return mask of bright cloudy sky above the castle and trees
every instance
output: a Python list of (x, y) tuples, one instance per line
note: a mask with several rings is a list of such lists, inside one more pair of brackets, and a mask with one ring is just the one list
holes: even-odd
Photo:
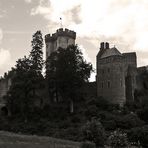
[(148, 65), (148, 0), (0, 0), (0, 76), (29, 54), (37, 30), (44, 37), (60, 28), (60, 17), (94, 68), (100, 42)]

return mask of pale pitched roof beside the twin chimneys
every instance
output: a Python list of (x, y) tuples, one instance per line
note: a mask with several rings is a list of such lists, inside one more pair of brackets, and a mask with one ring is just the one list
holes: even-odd
[(115, 56), (115, 55), (122, 56), (120, 51), (116, 47), (113, 47), (110, 49), (106, 49), (104, 53), (101, 55), (101, 58), (106, 58), (106, 57)]

